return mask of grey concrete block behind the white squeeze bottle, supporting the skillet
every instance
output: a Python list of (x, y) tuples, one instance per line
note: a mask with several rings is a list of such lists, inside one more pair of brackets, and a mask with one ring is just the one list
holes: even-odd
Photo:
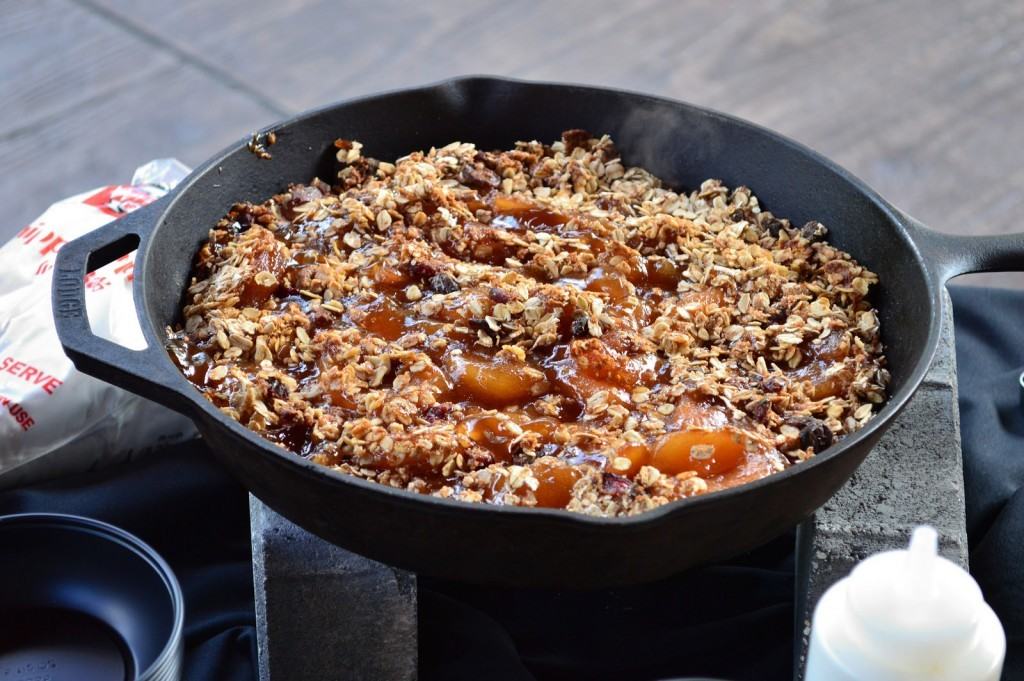
[(849, 482), (800, 527), (797, 543), (797, 658), (803, 675), (818, 598), (867, 556), (904, 548), (915, 525), (930, 524), (940, 552), (968, 565), (964, 461), (956, 402), (952, 313), (935, 360), (903, 412)]

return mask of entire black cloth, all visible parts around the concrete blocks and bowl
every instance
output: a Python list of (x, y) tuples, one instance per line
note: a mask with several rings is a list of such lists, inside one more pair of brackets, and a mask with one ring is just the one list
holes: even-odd
[[(971, 568), (1024, 679), (1024, 293), (951, 291)], [(202, 444), (0, 494), (0, 514), (76, 513), (124, 527), (185, 595), (187, 681), (256, 679), (245, 491)], [(539, 592), (420, 582), (421, 678), (790, 679), (793, 536), (653, 585)]]

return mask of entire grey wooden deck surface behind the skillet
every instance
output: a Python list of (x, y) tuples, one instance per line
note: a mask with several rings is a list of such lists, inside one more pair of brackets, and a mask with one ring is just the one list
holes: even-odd
[(1024, 230), (1024, 2), (0, 0), (0, 242), (150, 159), (470, 73), (712, 107), (935, 228)]

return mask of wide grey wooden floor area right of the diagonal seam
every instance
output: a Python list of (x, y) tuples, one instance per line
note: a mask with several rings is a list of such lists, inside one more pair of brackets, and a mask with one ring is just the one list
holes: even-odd
[(279, 111), (465, 73), (605, 84), (777, 129), (936, 228), (1024, 209), (1024, 3), (78, 2)]

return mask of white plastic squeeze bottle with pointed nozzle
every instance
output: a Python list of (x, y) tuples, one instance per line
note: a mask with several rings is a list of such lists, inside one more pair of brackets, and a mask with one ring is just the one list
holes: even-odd
[(918, 527), (818, 601), (804, 681), (998, 681), (1006, 652), (978, 583)]

